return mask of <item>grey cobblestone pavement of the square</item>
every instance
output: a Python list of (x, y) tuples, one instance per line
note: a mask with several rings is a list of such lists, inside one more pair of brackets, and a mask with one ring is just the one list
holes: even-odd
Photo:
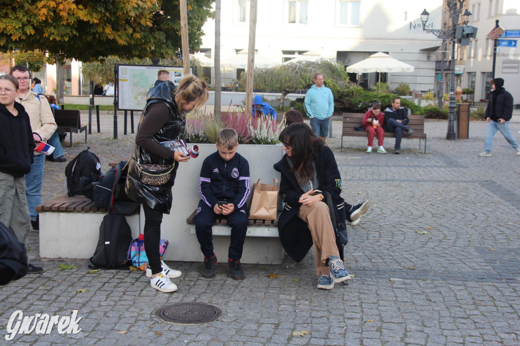
[[(75, 135), (79, 142), (66, 155), (89, 146), (103, 167), (129, 155), (135, 137), (122, 134), (121, 115), (119, 139), (111, 138), (112, 117), (103, 115), (106, 132), (87, 144)], [(485, 126), (471, 122), (470, 139), (447, 141), (446, 121), (427, 121), (427, 153), (419, 140), (404, 139), (394, 155), (365, 153), (361, 138), (345, 138), (341, 151), (341, 122), (334, 122), (330, 145), (343, 195), (350, 203), (371, 203), (349, 229), (345, 263), (356, 276), (348, 286), (316, 289), (310, 252), (297, 264), (287, 256), (281, 265), (246, 264), (240, 282), (228, 277), (224, 263), (207, 280), (199, 275), (201, 263), (171, 262), (183, 276), (173, 280), (178, 291), (164, 294), (142, 272), (90, 274), (86, 260), (40, 259), (38, 234), (31, 232), (30, 258), (46, 272), (0, 288), (0, 344), (520, 345), (520, 157), (500, 134), (493, 155), (478, 157)], [(520, 140), (518, 117), (511, 130)], [(393, 143), (387, 139), (385, 148)], [(65, 166), (46, 163), (44, 200), (64, 192)], [(63, 263), (77, 268), (60, 271)], [(176, 302), (213, 304), (223, 314), (199, 325), (161, 322), (155, 312)], [(4, 339), (16, 310), (70, 316), (73, 309), (82, 317), (78, 334), (54, 328)]]

